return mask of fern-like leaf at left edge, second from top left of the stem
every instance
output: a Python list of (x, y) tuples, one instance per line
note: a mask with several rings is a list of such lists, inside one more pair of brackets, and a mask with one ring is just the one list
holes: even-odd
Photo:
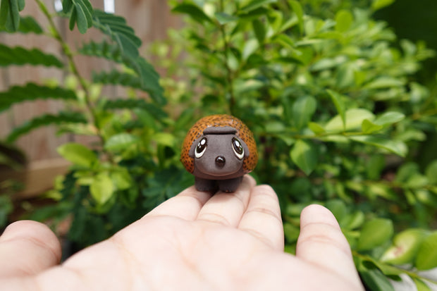
[(63, 63), (52, 54), (44, 54), (39, 49), (25, 49), (23, 47), (7, 47), (0, 44), (0, 66), (9, 65), (42, 65), (63, 67)]

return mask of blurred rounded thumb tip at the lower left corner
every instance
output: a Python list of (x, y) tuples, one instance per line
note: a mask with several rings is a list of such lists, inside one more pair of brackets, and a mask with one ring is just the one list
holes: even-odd
[(0, 278), (34, 275), (59, 264), (61, 245), (42, 223), (17, 221), (0, 237)]

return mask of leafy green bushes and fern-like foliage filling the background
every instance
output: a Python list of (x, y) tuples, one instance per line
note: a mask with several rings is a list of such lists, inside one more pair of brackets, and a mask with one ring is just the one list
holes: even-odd
[[(49, 193), (57, 203), (32, 218), (72, 216), (69, 238), (78, 247), (103, 240), (191, 185), (178, 161), (185, 132), (202, 116), (231, 113), (257, 138), (253, 175), (278, 193), (287, 252), (295, 251), (302, 208), (324, 204), (369, 290), (393, 290), (401, 277), (418, 290), (436, 284), (422, 272), (437, 266), (436, 70), (423, 68), (435, 53), (377, 20), (393, 1), (169, 1), (185, 27), (148, 47), (154, 66), (165, 68), (161, 78), (123, 18), (87, 0), (64, 0), (56, 15), (36, 1), (49, 27), (19, 15), (23, 0), (1, 1), (0, 25), (5, 33), (51, 35), (67, 63), (2, 45), (0, 65), (53, 66), (70, 75), (60, 84), (8, 88), (0, 110), (55, 98), (66, 112), (28, 120), (6, 142), (56, 124), (60, 133), (94, 135), (99, 144), (59, 147), (73, 166)], [(95, 27), (102, 37), (68, 47), (54, 17), (82, 33)], [(117, 66), (95, 68), (85, 80), (75, 54)], [(126, 96), (108, 99), (106, 85), (128, 88)]]

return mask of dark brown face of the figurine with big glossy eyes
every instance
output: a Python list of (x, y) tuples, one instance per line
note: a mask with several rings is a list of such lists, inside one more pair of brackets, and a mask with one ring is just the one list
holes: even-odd
[(195, 158), (195, 175), (217, 179), (242, 175), (242, 162), (249, 156), (249, 149), (235, 132), (230, 127), (204, 130), (190, 149), (190, 156)]

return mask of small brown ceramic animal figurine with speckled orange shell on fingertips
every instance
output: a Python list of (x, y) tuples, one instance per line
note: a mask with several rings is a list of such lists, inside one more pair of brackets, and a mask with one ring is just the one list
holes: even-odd
[(257, 144), (240, 119), (207, 116), (188, 131), (180, 161), (195, 175), (197, 190), (235, 192), (242, 176), (257, 165)]

